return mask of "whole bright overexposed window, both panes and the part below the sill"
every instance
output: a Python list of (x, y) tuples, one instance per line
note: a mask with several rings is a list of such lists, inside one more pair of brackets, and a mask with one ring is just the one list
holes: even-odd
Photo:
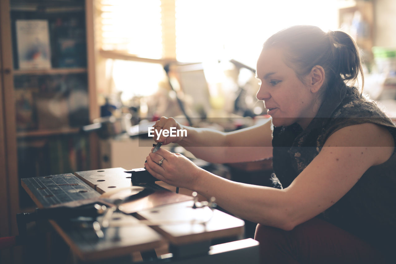
[(165, 76), (161, 63), (175, 59), (235, 59), (255, 68), (263, 42), (280, 29), (337, 29), (336, 2), (97, 0), (97, 44), (107, 69), (99, 76), (106, 80), (97, 81), (99, 93), (123, 91), (124, 99), (152, 94)]

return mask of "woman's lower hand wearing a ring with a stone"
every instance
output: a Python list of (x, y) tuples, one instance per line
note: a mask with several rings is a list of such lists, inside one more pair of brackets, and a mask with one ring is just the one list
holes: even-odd
[(156, 153), (150, 153), (145, 168), (158, 180), (190, 190), (194, 190), (198, 173), (202, 170), (185, 156), (171, 153), (166, 149), (158, 149)]

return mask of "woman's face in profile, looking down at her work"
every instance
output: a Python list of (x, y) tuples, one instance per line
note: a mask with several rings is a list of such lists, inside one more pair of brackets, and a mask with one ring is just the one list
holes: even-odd
[[(297, 122), (306, 128), (317, 113), (316, 96), (284, 60), (280, 48), (261, 52), (256, 72), (261, 83), (256, 97), (264, 101), (274, 126), (289, 126)], [(309, 75), (304, 81), (309, 83)]]

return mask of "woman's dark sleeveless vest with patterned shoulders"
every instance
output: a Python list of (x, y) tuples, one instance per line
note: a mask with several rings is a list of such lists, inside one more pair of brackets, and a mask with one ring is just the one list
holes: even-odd
[[(395, 125), (375, 102), (354, 89), (344, 89), (339, 99), (325, 101), (305, 130), (296, 123), (274, 128), (274, 187), (289, 186), (335, 131), (366, 122), (386, 127), (396, 145)], [(396, 147), (388, 161), (370, 167), (352, 189), (320, 217), (385, 252), (396, 248)]]

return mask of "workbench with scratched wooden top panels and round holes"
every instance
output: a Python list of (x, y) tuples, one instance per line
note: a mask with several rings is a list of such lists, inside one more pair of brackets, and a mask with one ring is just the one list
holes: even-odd
[[(124, 171), (107, 168), (24, 178), (21, 184), (40, 215), (65, 208), (82, 208), (85, 214), (93, 205), (97, 212), (105, 210), (95, 217), (77, 213), (49, 218), (77, 263), (259, 263), (259, 245), (253, 239), (211, 245), (215, 239), (242, 237), (243, 220), (160, 182), (132, 184), (131, 174)], [(169, 252), (156, 253), (158, 248)], [(139, 260), (131, 257), (137, 252)]]

